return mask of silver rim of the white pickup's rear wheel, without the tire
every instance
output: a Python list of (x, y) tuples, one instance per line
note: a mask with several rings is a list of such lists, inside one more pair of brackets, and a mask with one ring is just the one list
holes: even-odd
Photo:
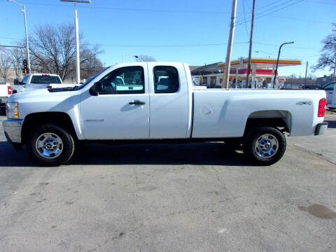
[(278, 151), (279, 142), (272, 134), (263, 134), (255, 141), (255, 153), (261, 158), (272, 158)]

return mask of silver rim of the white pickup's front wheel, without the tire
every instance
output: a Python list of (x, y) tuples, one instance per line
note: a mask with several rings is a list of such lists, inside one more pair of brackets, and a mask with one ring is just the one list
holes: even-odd
[(57, 158), (63, 151), (63, 141), (57, 134), (43, 133), (37, 138), (35, 148), (43, 158)]

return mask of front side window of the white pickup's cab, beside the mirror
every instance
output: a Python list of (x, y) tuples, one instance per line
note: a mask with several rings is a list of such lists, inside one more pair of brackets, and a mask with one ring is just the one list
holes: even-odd
[(142, 66), (126, 66), (111, 71), (101, 80), (101, 94), (144, 94), (145, 77)]

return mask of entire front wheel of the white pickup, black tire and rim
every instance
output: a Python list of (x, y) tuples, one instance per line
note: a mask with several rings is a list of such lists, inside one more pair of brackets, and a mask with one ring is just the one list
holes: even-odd
[(58, 166), (72, 157), (75, 144), (71, 134), (62, 127), (45, 124), (31, 132), (27, 139), (27, 151), (41, 165)]

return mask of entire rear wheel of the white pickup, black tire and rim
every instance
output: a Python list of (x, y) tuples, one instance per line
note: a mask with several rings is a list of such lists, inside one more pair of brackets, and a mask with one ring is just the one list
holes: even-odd
[(286, 138), (276, 127), (259, 126), (244, 137), (244, 153), (258, 165), (273, 165), (286, 151)]

